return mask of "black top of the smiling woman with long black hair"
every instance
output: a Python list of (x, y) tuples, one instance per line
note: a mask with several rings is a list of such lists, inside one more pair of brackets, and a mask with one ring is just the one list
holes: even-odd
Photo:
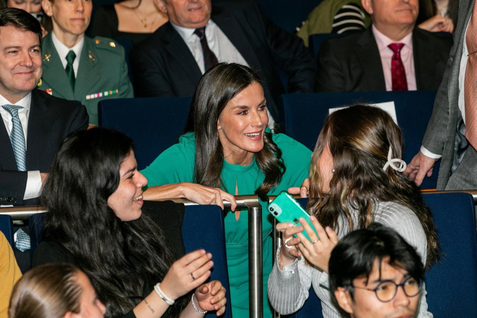
[[(142, 208), (155, 223), (161, 228), (167, 245), (170, 246), (176, 259), (186, 254), (184, 242), (182, 240), (182, 221), (184, 220), (184, 204), (174, 203), (173, 201), (144, 201)], [(132, 221), (134, 222), (134, 221)], [(173, 243), (173, 244), (172, 244)], [(61, 244), (55, 242), (41, 242), (33, 254), (33, 267), (48, 263), (69, 263), (75, 265), (73, 255)], [(146, 280), (143, 297), (147, 297), (156, 281)], [(169, 317), (171, 307), (167, 309), (162, 317)], [(131, 309), (122, 318), (135, 318)]]

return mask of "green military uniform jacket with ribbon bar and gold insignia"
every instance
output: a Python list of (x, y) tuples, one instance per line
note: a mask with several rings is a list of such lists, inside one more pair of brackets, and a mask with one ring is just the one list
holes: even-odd
[(88, 111), (90, 124), (98, 124), (98, 102), (105, 98), (134, 97), (127, 74), (124, 48), (111, 39), (84, 36), (74, 92), (56, 52), (52, 33), (41, 44), (43, 76), (38, 88), (68, 100), (81, 102)]

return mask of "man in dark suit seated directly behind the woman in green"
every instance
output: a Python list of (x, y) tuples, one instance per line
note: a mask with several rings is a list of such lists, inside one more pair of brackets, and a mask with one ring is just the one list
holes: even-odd
[(136, 96), (192, 96), (202, 74), (217, 62), (258, 71), (275, 119), (278, 96), (285, 93), (277, 66), (288, 74), (288, 92), (312, 92), (316, 65), (311, 54), (301, 39), (266, 18), (255, 1), (155, 3), (169, 22), (130, 54)]

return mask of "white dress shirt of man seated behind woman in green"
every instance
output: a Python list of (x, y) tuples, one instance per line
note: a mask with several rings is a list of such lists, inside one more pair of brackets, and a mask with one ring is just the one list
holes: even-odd
[[(196, 29), (184, 28), (174, 24), (170, 21), (172, 27), (180, 34), (181, 38), (186, 42), (187, 47), (194, 56), (194, 59), (197, 62), (197, 66), (200, 69), (202, 74), (205, 73), (204, 66), (204, 54), (202, 53), (202, 45), (200, 44), (200, 38), (197, 34), (194, 34)], [(217, 24), (215, 24), (212, 19), (210, 19), (206, 24), (206, 39), (209, 49), (215, 54), (218, 62), (227, 62), (227, 63), (238, 63), (242, 65), (249, 66), (247, 61), (240, 54), (239, 50), (235, 45), (230, 42), (227, 35), (220, 30)], [(250, 67), (250, 66), (249, 66)], [(273, 124), (275, 120), (270, 114), (270, 111), (267, 108), (267, 113), (269, 116), (269, 125)]]

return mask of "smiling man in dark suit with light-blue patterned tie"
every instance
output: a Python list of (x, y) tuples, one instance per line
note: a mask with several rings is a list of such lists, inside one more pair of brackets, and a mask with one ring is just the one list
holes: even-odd
[(35, 89), (41, 26), (20, 9), (0, 10), (0, 205), (38, 204), (52, 159), (69, 133), (88, 125), (86, 108)]

